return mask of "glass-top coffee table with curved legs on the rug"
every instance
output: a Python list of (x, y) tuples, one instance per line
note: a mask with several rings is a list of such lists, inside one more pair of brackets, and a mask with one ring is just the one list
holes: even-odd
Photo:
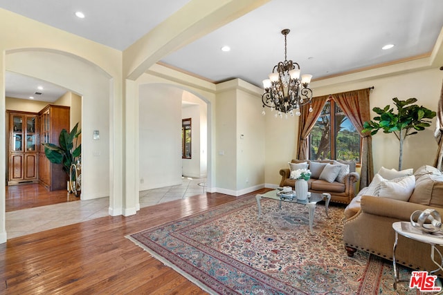
[(312, 230), (312, 226), (314, 225), (314, 211), (316, 209), (316, 204), (320, 201), (325, 201), (325, 212), (327, 218), (329, 218), (328, 214), (328, 207), (329, 207), (329, 201), (331, 200), (331, 195), (329, 193), (308, 193), (307, 200), (297, 200), (297, 198), (294, 196), (293, 198), (285, 198), (280, 195), (281, 191), (279, 189), (275, 189), (273, 191), (268, 191), (266, 193), (257, 194), (255, 195), (255, 199), (257, 200), (257, 206), (258, 206), (258, 218), (262, 215), (262, 204), (260, 204), (260, 200), (262, 198), (266, 199), (272, 199), (272, 200), (278, 200), (280, 202), (279, 207), (282, 209), (282, 202), (292, 202), (296, 204), (302, 204), (305, 205), (309, 212), (309, 230), (311, 231), (311, 234), (314, 234), (314, 231)]

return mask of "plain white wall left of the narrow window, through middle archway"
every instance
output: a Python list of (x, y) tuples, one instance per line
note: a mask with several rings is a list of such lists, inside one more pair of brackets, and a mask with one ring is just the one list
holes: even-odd
[(181, 96), (164, 84), (139, 87), (141, 191), (181, 184)]

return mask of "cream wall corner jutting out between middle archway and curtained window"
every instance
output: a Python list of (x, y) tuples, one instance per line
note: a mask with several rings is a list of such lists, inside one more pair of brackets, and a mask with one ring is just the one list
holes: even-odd
[(264, 187), (261, 92), (240, 79), (217, 84), (216, 167), (221, 193), (240, 196)]

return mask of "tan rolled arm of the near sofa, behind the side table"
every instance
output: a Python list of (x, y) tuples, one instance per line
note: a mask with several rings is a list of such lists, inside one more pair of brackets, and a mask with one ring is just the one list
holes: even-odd
[[(410, 220), (415, 210), (423, 211), (431, 206), (374, 196), (361, 196), (361, 212), (397, 220)], [(443, 216), (443, 208), (432, 207)], [(361, 213), (360, 212), (360, 213)], [(357, 215), (357, 214), (356, 214)]]

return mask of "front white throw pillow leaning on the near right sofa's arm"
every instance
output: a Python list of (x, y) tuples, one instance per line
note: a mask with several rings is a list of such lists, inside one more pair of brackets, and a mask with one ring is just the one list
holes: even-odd
[(409, 175), (393, 180), (383, 180), (374, 191), (375, 196), (408, 201), (415, 188), (415, 176)]

